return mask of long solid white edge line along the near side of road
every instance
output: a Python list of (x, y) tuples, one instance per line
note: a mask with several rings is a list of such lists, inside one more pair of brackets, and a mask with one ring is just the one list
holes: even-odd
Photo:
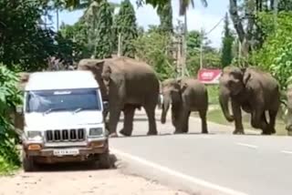
[(169, 169), (169, 168), (164, 167), (162, 165), (153, 163), (153, 162), (151, 162), (151, 161), (149, 161), (147, 159), (141, 159), (140, 157), (133, 156), (133, 155), (131, 155), (129, 153), (126, 153), (126, 152), (122, 152), (119, 149), (112, 149), (112, 148), (110, 148), (110, 151), (112, 151), (113, 153), (115, 153), (117, 155), (120, 155), (121, 157), (134, 160), (136, 162), (139, 162), (139, 163), (141, 163), (141, 164), (143, 164), (145, 166), (151, 167), (153, 169), (159, 169), (162, 172), (165, 172), (165, 173), (170, 174), (172, 176), (181, 178), (183, 180), (188, 180), (190, 182), (193, 182), (193, 184), (195, 184), (195, 185), (201, 185), (201, 186), (203, 186), (205, 188), (209, 188), (209, 189), (213, 189), (213, 190), (218, 190), (218, 191), (221, 191), (221, 192), (226, 193), (226, 194), (232, 194), (232, 195), (247, 195), (246, 193), (241, 192), (241, 191), (232, 190), (232, 189), (229, 189), (229, 188), (225, 188), (223, 186), (216, 185), (214, 183), (210, 183), (210, 182), (205, 181), (205, 180), (196, 179), (196, 178), (191, 177), (189, 175), (185, 175), (185, 174), (183, 174), (183, 173), (181, 173), (179, 171), (176, 171), (176, 170), (173, 170), (173, 169)]

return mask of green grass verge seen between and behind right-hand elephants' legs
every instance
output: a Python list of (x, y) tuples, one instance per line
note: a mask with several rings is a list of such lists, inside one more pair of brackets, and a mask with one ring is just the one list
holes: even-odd
[[(193, 116), (198, 117), (197, 113), (193, 114)], [(234, 127), (234, 122), (228, 122), (222, 113), (221, 109), (213, 109), (208, 112), (208, 121), (212, 121), (214, 123), (231, 126)], [(250, 115), (243, 113), (243, 124), (245, 129), (259, 130), (252, 128), (250, 125)], [(285, 129), (285, 122), (282, 119), (277, 118), (276, 120), (276, 135), (277, 136), (286, 136), (287, 130)]]

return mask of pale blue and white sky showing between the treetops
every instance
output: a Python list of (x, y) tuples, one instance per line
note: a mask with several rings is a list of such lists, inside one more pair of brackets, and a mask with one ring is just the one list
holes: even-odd
[[(113, 3), (120, 3), (120, 0), (109, 0)], [(208, 0), (208, 6), (206, 8), (201, 5), (201, 0), (194, 0), (194, 8), (191, 6), (187, 12), (187, 24), (188, 30), (203, 30), (209, 32), (214, 26), (224, 17), (228, 11), (228, 0)], [(159, 16), (156, 14), (155, 9), (151, 5), (143, 5), (137, 8), (136, 0), (130, 0), (131, 4), (136, 10), (136, 18), (139, 26), (143, 26), (145, 29), (149, 25), (159, 25)], [(178, 0), (172, 0), (172, 23), (177, 24), (177, 20), (183, 17), (179, 17)], [(64, 22), (65, 24), (72, 25), (78, 21), (78, 18), (83, 14), (83, 10), (68, 12), (66, 10), (59, 13), (59, 25)], [(56, 24), (56, 14), (52, 15), (53, 26)], [(212, 32), (207, 36), (211, 40), (211, 46), (219, 48), (221, 46), (221, 38), (223, 36), (222, 21)], [(230, 26), (232, 27), (232, 26)]]

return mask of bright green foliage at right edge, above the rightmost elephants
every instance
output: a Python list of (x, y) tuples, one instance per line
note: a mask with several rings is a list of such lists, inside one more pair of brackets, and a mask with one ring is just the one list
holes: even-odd
[[(264, 21), (271, 21), (272, 14), (262, 15)], [(255, 64), (269, 71), (279, 81), (282, 88), (287, 87), (287, 81), (292, 76), (292, 12), (281, 12), (277, 16), (276, 30), (267, 24), (264, 28), (269, 35), (262, 49), (253, 55)]]

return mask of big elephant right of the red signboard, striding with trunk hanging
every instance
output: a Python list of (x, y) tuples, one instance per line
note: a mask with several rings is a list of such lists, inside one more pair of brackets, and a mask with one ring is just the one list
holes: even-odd
[[(229, 113), (231, 99), (233, 115)], [(224, 117), (235, 121), (234, 134), (244, 134), (241, 108), (251, 114), (253, 128), (262, 129), (262, 134), (276, 133), (276, 114), (280, 105), (279, 84), (269, 73), (254, 67), (224, 67), (219, 79), (219, 102)], [(269, 123), (266, 121), (266, 110)]]

